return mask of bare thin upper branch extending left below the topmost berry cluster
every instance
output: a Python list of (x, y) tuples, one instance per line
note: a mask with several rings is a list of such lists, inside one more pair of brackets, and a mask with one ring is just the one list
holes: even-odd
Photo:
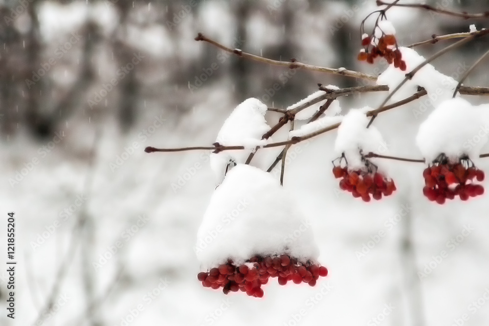
[(339, 68), (339, 69), (333, 69), (333, 68), (327, 68), (327, 67), (321, 67), (317, 65), (308, 65), (304, 64), (301, 62), (298, 62), (295, 59), (291, 59), (290, 62), (286, 61), (276, 61), (272, 59), (267, 59), (263, 58), (254, 54), (246, 53), (243, 52), (241, 49), (231, 49), (229, 47), (226, 47), (222, 45), (221, 43), (218, 43), (214, 40), (211, 40), (207, 37), (205, 37), (202, 33), (199, 33), (197, 37), (195, 38), (196, 41), (205, 41), (207, 43), (211, 43), (212, 45), (219, 47), (220, 49), (228, 52), (228, 53), (234, 53), (239, 57), (243, 57), (246, 59), (262, 62), (264, 64), (268, 65), (280, 65), (280, 66), (285, 66), (289, 67), (290, 69), (304, 69), (304, 70), (309, 70), (309, 71), (319, 71), (319, 72), (326, 72), (326, 73), (331, 73), (331, 74), (336, 74), (336, 75), (343, 75), (347, 77), (353, 77), (353, 78), (359, 78), (359, 79), (365, 79), (365, 80), (371, 80), (375, 81), (377, 77), (364, 74), (358, 71), (353, 71), (353, 70), (348, 70), (344, 68)]

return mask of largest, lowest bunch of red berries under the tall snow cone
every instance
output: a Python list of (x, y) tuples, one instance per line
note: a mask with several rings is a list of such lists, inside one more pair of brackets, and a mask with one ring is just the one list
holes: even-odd
[(319, 264), (307, 261), (302, 263), (288, 255), (275, 257), (254, 256), (246, 263), (235, 266), (232, 261), (211, 268), (208, 272), (200, 272), (197, 279), (204, 287), (218, 289), (222, 292), (246, 292), (247, 295), (263, 297), (262, 284), (268, 283), (268, 278), (277, 277), (280, 285), (292, 281), (295, 284), (302, 282), (311, 286), (316, 285), (317, 279), (328, 275), (328, 269)]

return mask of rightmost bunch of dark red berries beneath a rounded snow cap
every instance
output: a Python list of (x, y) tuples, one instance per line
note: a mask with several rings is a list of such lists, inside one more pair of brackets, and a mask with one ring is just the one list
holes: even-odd
[(467, 200), (484, 194), (484, 187), (475, 184), (475, 180), (484, 181), (484, 171), (477, 169), (468, 157), (462, 157), (458, 163), (450, 163), (445, 154), (441, 154), (424, 169), (423, 177), (424, 196), (439, 204), (455, 196)]

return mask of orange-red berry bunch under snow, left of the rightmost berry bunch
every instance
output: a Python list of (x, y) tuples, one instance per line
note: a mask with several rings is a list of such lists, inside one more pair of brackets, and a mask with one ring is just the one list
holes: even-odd
[(335, 178), (341, 178), (339, 187), (346, 190), (355, 198), (362, 197), (363, 201), (369, 202), (370, 195), (376, 200), (382, 199), (382, 195), (390, 196), (396, 190), (394, 180), (387, 179), (384, 175), (376, 172), (362, 170), (348, 171), (348, 168), (333, 167)]

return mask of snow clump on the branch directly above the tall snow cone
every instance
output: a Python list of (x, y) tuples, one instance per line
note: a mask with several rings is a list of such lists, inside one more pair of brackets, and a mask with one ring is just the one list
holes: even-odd
[(211, 153), (210, 165), (219, 183), (230, 161), (244, 163), (256, 146), (271, 141), (271, 138), (262, 139), (263, 134), (270, 130), (265, 120), (266, 112), (265, 104), (256, 98), (249, 98), (238, 105), (224, 121), (216, 142), (224, 146), (244, 146), (245, 150)]

